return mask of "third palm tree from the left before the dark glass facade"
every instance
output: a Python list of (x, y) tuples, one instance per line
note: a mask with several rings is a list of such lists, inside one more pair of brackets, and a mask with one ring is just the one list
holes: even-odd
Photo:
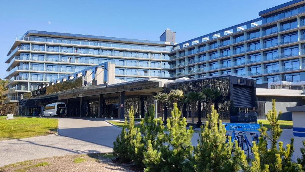
[(205, 99), (205, 95), (202, 92), (188, 92), (185, 96), (185, 102), (191, 103), (192, 112), (192, 124), (195, 124), (195, 111), (197, 101)]

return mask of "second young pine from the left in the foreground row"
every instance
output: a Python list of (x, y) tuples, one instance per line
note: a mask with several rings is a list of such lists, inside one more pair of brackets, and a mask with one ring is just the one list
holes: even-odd
[(160, 144), (157, 143), (157, 136), (164, 134), (163, 121), (160, 118), (154, 119), (155, 105), (149, 106), (149, 116), (146, 113), (145, 119), (140, 122), (140, 128), (137, 130), (137, 135), (134, 140), (132, 140), (133, 151), (135, 152), (131, 157), (133, 162), (138, 166), (144, 168), (144, 151), (147, 147), (151, 149), (160, 150)]

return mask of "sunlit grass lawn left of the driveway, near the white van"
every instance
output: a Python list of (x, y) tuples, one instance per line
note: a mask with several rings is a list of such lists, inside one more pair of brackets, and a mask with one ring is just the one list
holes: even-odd
[(0, 117), (0, 140), (20, 139), (26, 137), (54, 134), (57, 132), (58, 120), (51, 118)]

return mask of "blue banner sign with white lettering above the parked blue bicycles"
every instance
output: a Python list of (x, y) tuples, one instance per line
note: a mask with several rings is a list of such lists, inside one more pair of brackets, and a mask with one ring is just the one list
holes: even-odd
[(260, 128), (259, 124), (251, 124), (251, 123), (222, 123), (225, 125), (227, 131), (240, 131), (240, 132), (258, 132)]

